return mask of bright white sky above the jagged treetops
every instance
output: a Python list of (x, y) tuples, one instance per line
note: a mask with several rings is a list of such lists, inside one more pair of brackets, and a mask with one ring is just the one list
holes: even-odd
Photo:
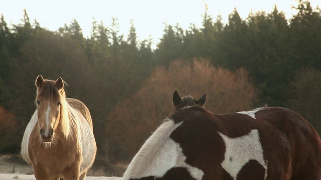
[[(110, 26), (111, 18), (117, 17), (120, 33), (127, 38), (132, 19), (140, 40), (151, 35), (157, 43), (163, 36), (163, 22), (179, 23), (183, 29), (188, 29), (190, 23), (201, 27), (204, 2), (208, 4), (208, 14), (215, 20), (220, 13), (225, 23), (234, 7), (245, 19), (251, 10), (272, 11), (275, 3), (290, 18), (295, 13), (291, 5), (297, 6), (295, 0), (0, 0), (0, 13), (7, 23), (18, 24), (26, 8), (32, 23), (37, 19), (41, 27), (52, 31), (65, 23), (69, 25), (75, 18), (85, 37), (90, 35), (93, 17), (105, 26)], [(310, 2), (313, 8), (321, 4), (320, 0)]]

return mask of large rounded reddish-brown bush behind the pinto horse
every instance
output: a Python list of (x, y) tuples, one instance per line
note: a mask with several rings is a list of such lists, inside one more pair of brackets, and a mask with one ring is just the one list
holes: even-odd
[(143, 141), (174, 108), (173, 92), (199, 98), (207, 93), (205, 107), (216, 113), (248, 110), (256, 99), (244, 68), (230, 71), (207, 59), (175, 60), (168, 68), (156, 67), (134, 95), (115, 105), (108, 116), (110, 160), (129, 160)]

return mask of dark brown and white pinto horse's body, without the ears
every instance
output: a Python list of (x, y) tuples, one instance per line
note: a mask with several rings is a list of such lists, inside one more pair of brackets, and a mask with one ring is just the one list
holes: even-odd
[(321, 141), (282, 107), (215, 114), (178, 109), (152, 133), (123, 175), (129, 179), (321, 179)]

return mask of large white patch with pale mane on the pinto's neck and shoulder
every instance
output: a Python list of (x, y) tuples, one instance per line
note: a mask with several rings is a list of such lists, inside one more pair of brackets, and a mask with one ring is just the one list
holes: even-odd
[(171, 133), (182, 124), (166, 119), (139, 149), (128, 165), (123, 180), (155, 176), (163, 177), (174, 167), (184, 167), (190, 175), (201, 180), (204, 172), (186, 163), (186, 156), (181, 145), (170, 138)]

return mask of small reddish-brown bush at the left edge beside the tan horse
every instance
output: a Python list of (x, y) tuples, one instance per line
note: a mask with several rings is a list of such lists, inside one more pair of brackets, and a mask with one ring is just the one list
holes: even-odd
[(0, 106), (0, 152), (8, 153), (17, 148), (20, 140), (17, 134), (18, 129), (15, 115)]

